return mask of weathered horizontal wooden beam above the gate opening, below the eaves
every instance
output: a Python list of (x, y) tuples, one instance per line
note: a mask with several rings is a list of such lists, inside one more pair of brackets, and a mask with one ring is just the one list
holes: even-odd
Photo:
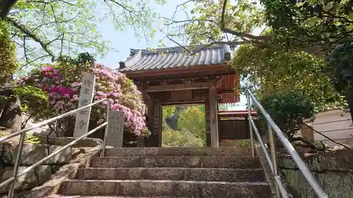
[(191, 84), (177, 84), (177, 85), (158, 85), (146, 87), (147, 92), (166, 92), (177, 90), (190, 90), (190, 89), (208, 89), (210, 82), (198, 82)]

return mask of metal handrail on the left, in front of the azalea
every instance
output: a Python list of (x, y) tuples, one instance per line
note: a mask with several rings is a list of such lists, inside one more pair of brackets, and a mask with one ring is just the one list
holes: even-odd
[[(41, 159), (40, 161), (37, 161), (36, 163), (34, 163), (32, 166), (28, 166), (27, 168), (25, 168), (25, 170), (23, 170), (22, 172), (18, 173), (18, 167), (20, 166), (20, 158), (21, 158), (21, 154), (22, 154), (22, 149), (23, 149), (23, 143), (25, 142), (25, 133), (33, 130), (35, 128), (40, 128), (44, 125), (47, 125), (49, 123), (52, 123), (56, 120), (59, 120), (61, 118), (65, 118), (67, 116), (73, 116), (74, 113), (77, 113), (78, 111), (81, 111), (83, 109), (86, 109), (88, 107), (91, 106), (95, 106), (96, 104), (100, 104), (104, 101), (107, 101), (107, 120), (106, 122), (102, 123), (101, 125), (97, 126), (97, 128), (94, 128), (93, 130), (90, 130), (89, 132), (87, 132), (85, 135), (82, 135), (80, 137), (78, 137), (76, 140), (73, 140), (72, 142), (66, 144), (64, 147), (62, 147), (61, 149), (58, 149), (57, 151), (54, 151), (52, 154), (49, 154), (48, 156), (44, 157), (43, 159)], [(68, 111), (67, 113), (61, 114), (60, 116), (56, 116), (54, 118), (50, 118), (48, 120), (44, 120), (40, 123), (36, 123), (28, 128), (24, 128), (23, 130), (19, 130), (18, 132), (14, 132), (10, 135), (7, 135), (5, 137), (1, 137), (0, 138), (0, 143), (4, 142), (8, 139), (11, 139), (12, 137), (16, 137), (18, 135), (20, 135), (20, 142), (18, 144), (18, 151), (16, 154), (16, 161), (15, 161), (15, 165), (14, 165), (14, 169), (13, 169), (13, 176), (11, 178), (8, 178), (8, 180), (5, 180), (4, 182), (0, 183), (0, 188), (4, 187), (5, 185), (7, 185), (8, 183), (12, 182), (12, 184), (10, 185), (9, 189), (8, 189), (8, 198), (12, 198), (13, 197), (13, 192), (15, 191), (15, 186), (16, 186), (16, 180), (22, 176), (25, 175), (25, 173), (28, 173), (29, 171), (32, 171), (34, 168), (36, 168), (37, 166), (39, 166), (40, 164), (42, 164), (44, 161), (47, 161), (49, 159), (51, 159), (53, 156), (55, 156), (56, 154), (59, 154), (61, 151), (64, 151), (65, 149), (67, 149), (68, 147), (72, 146), (73, 144), (75, 144), (76, 142), (78, 142), (79, 140), (82, 140), (85, 137), (88, 137), (88, 135), (91, 135), (93, 132), (96, 132), (97, 130), (100, 130), (100, 128), (105, 127), (105, 131), (104, 131), (104, 139), (103, 139), (103, 144), (102, 144), (102, 152), (100, 154), (100, 156), (104, 156), (104, 151), (105, 151), (105, 147), (107, 144), (107, 132), (108, 132), (108, 128), (109, 128), (109, 120), (108, 120), (108, 116), (109, 116), (109, 112), (110, 112), (110, 101), (109, 99), (101, 99), (99, 101), (95, 101), (92, 104), (88, 104), (86, 106), (82, 106), (78, 109), (74, 109), (73, 111)]]

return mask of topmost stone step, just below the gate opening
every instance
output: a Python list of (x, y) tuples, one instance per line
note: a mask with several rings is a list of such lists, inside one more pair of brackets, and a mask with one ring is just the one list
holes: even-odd
[(106, 156), (251, 156), (235, 147), (131, 147), (106, 149)]

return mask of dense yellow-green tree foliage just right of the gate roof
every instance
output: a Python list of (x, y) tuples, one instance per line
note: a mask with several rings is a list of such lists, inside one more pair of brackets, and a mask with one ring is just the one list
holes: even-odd
[(232, 66), (246, 83), (243, 88), (256, 89), (258, 97), (284, 90), (304, 93), (316, 107), (344, 105), (326, 74), (325, 60), (304, 51), (261, 48), (254, 44), (239, 47)]

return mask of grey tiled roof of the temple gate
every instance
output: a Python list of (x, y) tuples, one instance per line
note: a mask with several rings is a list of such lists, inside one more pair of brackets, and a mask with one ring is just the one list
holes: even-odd
[(185, 52), (183, 47), (160, 48), (156, 51), (131, 49), (131, 56), (124, 62), (124, 67), (119, 70), (124, 72), (217, 65), (228, 61), (227, 56), (232, 57), (235, 49), (237, 45), (224, 44), (205, 49), (203, 46), (198, 46), (194, 49), (198, 51), (198, 56)]

